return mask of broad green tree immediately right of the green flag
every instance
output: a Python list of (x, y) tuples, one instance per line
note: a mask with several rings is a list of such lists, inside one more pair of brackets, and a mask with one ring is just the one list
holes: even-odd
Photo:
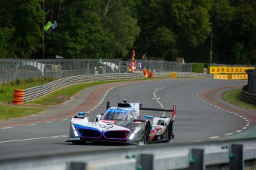
[(51, 15), (58, 18), (58, 27), (47, 35), (47, 55), (49, 57), (62, 55), (65, 58), (102, 56), (101, 49), (102, 44), (105, 44), (105, 35), (97, 13), (96, 1), (54, 1), (54, 3), (54, 7), (61, 8), (65, 5), (65, 8), (54, 10), (55, 13)]

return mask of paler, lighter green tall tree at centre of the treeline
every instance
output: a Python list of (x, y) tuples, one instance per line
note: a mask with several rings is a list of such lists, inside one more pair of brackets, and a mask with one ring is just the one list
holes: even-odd
[(99, 0), (99, 13), (107, 40), (102, 49), (106, 58), (125, 58), (133, 48), (140, 27), (133, 17), (135, 14), (131, 13), (134, 11), (132, 7), (131, 1)]

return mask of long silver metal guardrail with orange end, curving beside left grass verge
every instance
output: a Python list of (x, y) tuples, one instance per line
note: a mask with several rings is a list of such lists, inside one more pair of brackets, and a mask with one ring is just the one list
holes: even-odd
[[(154, 72), (154, 77), (170, 77), (171, 72)], [(177, 77), (206, 77), (209, 75), (193, 73), (193, 72), (177, 72)], [(68, 78), (62, 78), (49, 84), (42, 86), (35, 86), (29, 89), (24, 89), (24, 95), (22, 95), (21, 100), (15, 100), (13, 98), (13, 103), (22, 103), (23, 101), (30, 101), (35, 98), (47, 95), (49, 92), (53, 92), (56, 89), (60, 89), (65, 86), (70, 86), (73, 84), (81, 84), (92, 81), (109, 81), (109, 80), (128, 80), (134, 78), (143, 78), (142, 72), (139, 73), (113, 73), (113, 74), (99, 74), (99, 75), (77, 75)], [(15, 95), (15, 94), (14, 94)]]

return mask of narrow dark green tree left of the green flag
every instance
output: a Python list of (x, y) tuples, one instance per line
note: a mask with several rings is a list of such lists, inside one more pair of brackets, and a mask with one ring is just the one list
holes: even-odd
[[(12, 53), (17, 58), (30, 58), (30, 54), (36, 51), (36, 45), (42, 38), (42, 18), (44, 11), (40, 0), (30, 1), (5, 1), (8, 7), (7, 26), (13, 30), (10, 43), (12, 43)], [(10, 8), (9, 8), (10, 7)], [(13, 57), (13, 56), (11, 56)]]

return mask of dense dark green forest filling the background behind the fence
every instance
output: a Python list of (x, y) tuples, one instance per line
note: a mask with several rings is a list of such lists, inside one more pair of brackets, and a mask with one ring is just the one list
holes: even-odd
[(256, 64), (256, 1), (0, 1), (0, 58), (128, 60), (132, 50), (135, 59)]

